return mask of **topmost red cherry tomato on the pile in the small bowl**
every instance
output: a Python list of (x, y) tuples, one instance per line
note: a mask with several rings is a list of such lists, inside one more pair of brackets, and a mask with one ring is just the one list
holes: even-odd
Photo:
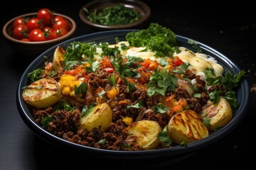
[(53, 12), (48, 8), (41, 8), (37, 13), (37, 18), (42, 21), (44, 26), (50, 26), (53, 23)]

